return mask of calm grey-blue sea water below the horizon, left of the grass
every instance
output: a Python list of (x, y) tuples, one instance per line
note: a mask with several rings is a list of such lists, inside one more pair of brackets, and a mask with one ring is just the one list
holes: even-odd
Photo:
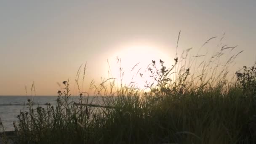
[[(3, 125), (6, 128), (6, 131), (14, 131), (13, 122), (17, 121), (17, 115), (21, 111), (26, 111), (27, 100), (32, 100), (32, 96), (0, 96), (0, 118), (3, 122)], [(45, 103), (50, 103), (51, 105), (56, 105), (57, 96), (34, 96), (33, 102), (34, 106), (37, 107), (46, 107)], [(71, 101), (79, 100), (79, 96), (71, 96)], [(89, 97), (89, 103), (96, 103), (99, 101), (99, 98), (95, 99), (94, 96)]]

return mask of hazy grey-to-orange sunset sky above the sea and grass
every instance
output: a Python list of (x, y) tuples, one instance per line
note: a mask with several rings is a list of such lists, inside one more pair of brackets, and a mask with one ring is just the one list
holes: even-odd
[(151, 59), (171, 64), (180, 30), (179, 54), (225, 32), (224, 42), (243, 50), (234, 69), (250, 66), (255, 7), (255, 0), (1, 0), (0, 95), (26, 95), (33, 82), (37, 95), (56, 95), (56, 83), (73, 85), (85, 62), (85, 83), (108, 77), (107, 60), (115, 77), (116, 56), (126, 70)]

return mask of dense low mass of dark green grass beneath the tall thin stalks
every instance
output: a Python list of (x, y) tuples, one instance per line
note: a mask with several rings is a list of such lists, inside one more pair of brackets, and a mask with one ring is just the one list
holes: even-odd
[[(125, 95), (108, 98), (109, 108), (66, 103), (29, 108), (18, 117), (20, 143), (254, 143), (255, 103), (238, 86), (175, 93), (163, 97)], [(64, 98), (64, 99), (62, 99)], [(36, 112), (35, 112), (36, 111)]]

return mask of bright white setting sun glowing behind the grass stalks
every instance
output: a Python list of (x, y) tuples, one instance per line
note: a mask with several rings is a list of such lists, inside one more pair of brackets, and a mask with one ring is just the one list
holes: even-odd
[(171, 60), (168, 52), (156, 46), (123, 46), (109, 59), (111, 77), (115, 77), (118, 83), (145, 89), (146, 83), (153, 82), (148, 66), (152, 64), (152, 60), (160, 59), (168, 62)]

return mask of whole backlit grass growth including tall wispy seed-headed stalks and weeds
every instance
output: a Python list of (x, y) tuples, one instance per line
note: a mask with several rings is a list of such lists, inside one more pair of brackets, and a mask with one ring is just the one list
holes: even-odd
[[(215, 38), (208, 39), (203, 46)], [(35, 107), (28, 100), (27, 109), (21, 111), (14, 125), (17, 142), (256, 143), (256, 68), (237, 72), (237, 81), (229, 79), (229, 65), (240, 52), (230, 56), (221, 67), (224, 51), (232, 51), (236, 46), (219, 44), (218, 47), (219, 51), (208, 60), (199, 53), (188, 58), (192, 48), (175, 58), (171, 67), (166, 67), (162, 60), (152, 60), (147, 67), (152, 78), (151, 83), (145, 82), (147, 91), (133, 84), (117, 85), (114, 77), (102, 80), (97, 86), (92, 81), (91, 89), (98, 96), (94, 101), (98, 98), (102, 107), (91, 104), (88, 92), (79, 87), (80, 67), (75, 80), (79, 103), (70, 99), (69, 81), (62, 83), (64, 88), (58, 91), (56, 106)], [(200, 63), (199, 58), (203, 58)], [(85, 68), (83, 81), (84, 75)], [(121, 81), (122, 77), (120, 68)]]

